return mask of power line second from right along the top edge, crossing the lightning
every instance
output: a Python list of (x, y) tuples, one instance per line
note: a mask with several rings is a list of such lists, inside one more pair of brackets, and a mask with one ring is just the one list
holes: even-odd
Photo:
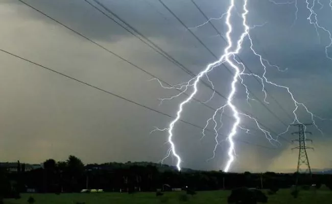
[[(187, 29), (187, 31), (189, 32), (189, 33), (191, 33), (194, 37), (195, 37), (195, 39), (197, 40), (197, 41), (199, 41), (199, 43), (200, 44), (202, 44), (202, 46), (206, 49), (206, 50), (208, 50), (208, 52), (212, 55), (212, 56), (214, 56), (216, 59), (218, 59), (218, 57), (202, 42), (202, 40), (200, 40), (184, 23), (183, 23), (183, 21), (167, 6), (167, 5), (165, 5), (163, 2), (162, 2), (162, 0), (158, 0), (162, 5), (163, 5), (163, 7), (165, 8), (165, 9), (167, 9), (182, 25), (183, 25), (183, 27), (185, 28), (185, 29)], [(230, 71), (230, 69), (226, 66), (226, 65), (224, 65), (224, 64), (222, 64), (231, 74), (232, 74), (232, 72)], [(248, 89), (248, 91), (255, 97), (255, 99), (257, 99), (258, 101), (259, 101), (259, 103), (260, 104), (262, 104), (275, 118), (277, 118), (282, 124), (284, 124), (285, 126), (288, 126), (285, 122), (283, 122), (273, 111), (271, 111), (270, 109), (269, 109), (269, 107), (267, 107), (255, 94), (253, 94), (253, 92), (251, 92), (249, 89)]]

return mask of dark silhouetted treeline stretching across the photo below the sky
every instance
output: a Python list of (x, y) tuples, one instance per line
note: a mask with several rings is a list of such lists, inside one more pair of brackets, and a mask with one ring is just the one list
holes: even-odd
[[(43, 168), (27, 171), (17, 163), (17, 171), (0, 169), (0, 197), (17, 197), (19, 192), (35, 189), (39, 193), (80, 192), (82, 189), (103, 189), (104, 192), (156, 191), (172, 188), (200, 190), (234, 189), (239, 187), (271, 189), (298, 185), (332, 189), (332, 176), (313, 174), (224, 173), (222, 171), (160, 170), (153, 163), (105, 163), (84, 165), (75, 156), (66, 161), (46, 160)], [(171, 167), (169, 168), (171, 169)], [(271, 191), (271, 192), (272, 192)]]

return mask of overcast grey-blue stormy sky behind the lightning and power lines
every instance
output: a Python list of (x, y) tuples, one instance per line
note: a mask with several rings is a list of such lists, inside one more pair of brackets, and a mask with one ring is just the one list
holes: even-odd
[[(89, 0), (93, 3), (92, 0)], [(73, 30), (96, 41), (115, 54), (150, 72), (159, 79), (178, 84), (191, 79), (179, 67), (156, 53), (119, 25), (105, 17), (84, 0), (26, 0), (31, 6), (64, 23)], [(197, 74), (215, 58), (188, 32), (179, 21), (157, 0), (101, 0), (116, 15), (127, 21), (137, 31), (161, 47), (170, 56)], [(189, 28), (204, 23), (204, 16), (190, 0), (163, 0)], [(227, 9), (226, 0), (195, 0), (209, 18), (219, 18)], [(284, 2), (278, 1), (276, 2)], [(310, 1), (312, 2), (312, 1)], [(332, 10), (328, 0), (320, 1), (325, 7), (315, 10), (321, 25), (332, 30)], [(242, 1), (236, 7), (241, 13)], [(93, 5), (96, 5), (94, 3)], [(267, 0), (248, 1), (248, 23), (262, 25), (252, 29), (251, 36), (257, 53), (272, 64), (288, 68), (278, 72), (267, 67), (267, 77), (273, 82), (289, 86), (294, 97), (323, 118), (332, 118), (330, 87), (332, 85), (332, 61), (325, 57), (325, 46), (330, 40), (326, 32), (309, 23), (309, 11), (298, 1), (298, 15), (295, 19), (294, 4), (275, 5)], [(99, 7), (101, 8), (101, 7)], [(102, 8), (101, 8), (102, 9)], [(105, 11), (105, 10), (103, 10)], [(107, 11), (105, 11), (107, 12)], [(234, 32), (238, 37), (241, 21), (238, 14), (232, 14)], [(211, 21), (223, 35), (226, 33), (225, 18)], [(43, 16), (16, 0), (0, 1), (0, 47), (20, 57), (70, 75), (91, 85), (135, 101), (136, 103), (174, 116), (177, 106), (185, 98), (182, 95), (159, 106), (158, 98), (170, 97), (178, 92), (165, 90), (151, 75), (106, 52), (55, 21)], [(216, 31), (206, 24), (192, 29), (197, 37), (216, 55), (223, 53), (226, 43)], [(246, 39), (239, 55), (254, 73), (263, 73), (257, 57), (250, 53)], [(332, 56), (332, 48), (329, 49)], [(0, 53), (0, 155), (1, 161), (40, 163), (48, 158), (64, 160), (75, 155), (84, 163), (152, 161), (158, 162), (169, 148), (167, 132), (150, 131), (155, 126), (164, 128), (172, 118), (139, 107), (121, 98), (93, 89), (59, 74), (42, 69), (31, 63)], [(223, 95), (230, 89), (231, 74), (225, 67), (217, 67), (209, 73), (216, 90)], [(251, 77), (244, 78), (250, 91), (260, 100), (264, 99), (262, 87)], [(204, 79), (206, 81), (206, 79)], [(242, 111), (255, 116), (264, 126), (272, 130), (272, 136), (286, 130), (292, 122), (294, 104), (289, 94), (280, 88), (267, 86), (269, 93), (266, 104), (271, 114), (258, 101), (246, 103), (245, 90), (237, 86), (234, 103)], [(195, 96), (207, 100), (212, 91), (199, 86)], [(252, 96), (253, 97), (253, 96)], [(282, 106), (282, 109), (278, 106)], [(225, 99), (218, 96), (207, 104), (218, 108)], [(284, 111), (286, 110), (286, 111)], [(311, 122), (310, 115), (299, 110), (301, 122)], [(213, 111), (195, 101), (184, 108), (182, 119), (198, 126), (204, 126)], [(229, 111), (226, 114), (230, 115)], [(282, 122), (281, 122), (282, 121)], [(224, 117), (221, 133), (228, 134), (229, 118)], [(315, 151), (309, 151), (312, 168), (329, 168), (332, 154), (332, 121), (316, 120), (324, 132), (310, 126), (310, 139)], [(257, 131), (255, 124), (243, 119), (243, 126), (252, 127), (250, 134), (239, 130), (236, 134), (236, 161), (232, 171), (286, 171), (296, 167), (296, 146), (279, 139), (281, 146), (274, 148), (265, 136)], [(209, 129), (212, 129), (212, 124)], [(287, 140), (296, 139), (290, 133), (283, 135)], [(214, 134), (206, 132), (201, 140), (202, 130), (179, 122), (175, 126), (174, 141), (181, 156), (183, 167), (195, 169), (220, 169), (227, 159), (228, 143), (222, 142), (215, 159), (212, 156), (215, 145)], [(223, 137), (221, 136), (220, 140)], [(244, 143), (249, 142), (248, 143)], [(262, 146), (257, 146), (262, 145)], [(175, 164), (172, 158), (165, 160)]]

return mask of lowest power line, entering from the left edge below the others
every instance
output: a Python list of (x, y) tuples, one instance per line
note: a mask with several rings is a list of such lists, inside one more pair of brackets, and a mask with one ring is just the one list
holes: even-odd
[[(148, 110), (150, 110), (150, 111), (153, 111), (153, 112), (159, 113), (159, 114), (161, 114), (161, 115), (168, 116), (168, 117), (170, 117), (170, 118), (174, 118), (173, 116), (171, 116), (171, 115), (169, 115), (169, 114), (167, 114), (167, 113), (163, 113), (163, 112), (161, 112), (161, 111), (155, 110), (155, 109), (150, 108), (150, 107), (148, 107), (148, 106), (145, 106), (145, 105), (139, 104), (139, 103), (137, 103), (137, 102), (134, 101), (134, 100), (131, 100), (131, 99), (128, 99), (128, 98), (123, 97), (123, 96), (121, 96), (121, 95), (118, 95), (118, 94), (112, 93), (112, 92), (107, 91), (107, 90), (105, 90), (105, 89), (102, 89), (102, 88), (100, 88), (100, 87), (97, 87), (97, 86), (91, 85), (91, 84), (89, 84), (89, 83), (87, 83), (87, 82), (84, 82), (84, 81), (82, 81), (82, 80), (79, 80), (79, 79), (77, 79), (77, 78), (70, 77), (70, 76), (67, 75), (67, 74), (64, 74), (64, 73), (59, 72), (59, 71), (56, 71), (56, 70), (54, 70), (54, 69), (52, 69), (52, 68), (49, 68), (49, 67), (43, 66), (43, 65), (41, 65), (41, 64), (39, 64), (39, 63), (37, 63), (37, 62), (33, 62), (33, 61), (28, 60), (28, 59), (26, 59), (26, 58), (20, 57), (20, 56), (18, 56), (18, 55), (15, 55), (15, 54), (13, 54), (13, 53), (10, 53), (10, 52), (8, 52), (8, 51), (6, 51), (6, 50), (4, 50), (4, 49), (0, 49), (0, 51), (3, 52), (3, 53), (6, 53), (6, 54), (8, 54), (8, 55), (10, 55), (10, 56), (12, 56), (12, 57), (15, 57), (15, 58), (21, 59), (21, 60), (23, 60), (23, 61), (29, 62), (29, 63), (31, 63), (31, 64), (33, 64), (33, 65), (36, 65), (36, 66), (40, 67), (40, 68), (46, 69), (46, 70), (48, 70), (48, 71), (51, 71), (52, 73), (59, 74), (59, 75), (61, 75), (62, 77), (65, 77), (65, 78), (67, 78), (67, 79), (74, 80), (74, 81), (76, 81), (76, 82), (78, 82), (78, 83), (80, 83), (80, 84), (83, 84), (83, 85), (89, 86), (89, 87), (91, 87), (91, 88), (93, 88), (93, 89), (97, 89), (97, 90), (99, 90), (99, 91), (102, 91), (102, 92), (104, 92), (104, 93), (110, 94), (110, 95), (115, 96), (115, 97), (117, 97), (117, 98), (121, 98), (121, 99), (123, 99), (123, 100), (125, 100), (125, 101), (128, 101), (129, 103), (135, 104), (135, 105), (137, 105), (137, 106), (143, 107), (143, 108), (145, 108), (145, 109), (148, 109)], [(196, 124), (194, 124), (194, 123), (187, 122), (187, 121), (182, 120), (182, 119), (180, 119), (180, 121), (183, 122), (183, 123), (186, 123), (186, 124), (192, 125), (192, 126), (194, 126), (194, 127), (197, 127), (197, 128), (199, 128), (199, 129), (203, 129), (203, 127), (201, 127), (201, 126), (199, 126), (199, 125), (196, 125)], [(208, 130), (208, 129), (206, 129), (206, 131), (213, 132), (213, 131)], [(222, 135), (222, 134), (221, 134), (221, 135)], [(246, 141), (242, 141), (242, 140), (239, 140), (239, 141), (244, 142), (244, 143), (246, 143), (246, 144), (251, 144), (251, 143), (246, 142)], [(254, 145), (254, 144), (252, 144), (252, 145)], [(262, 145), (258, 145), (258, 146), (262, 146)], [(264, 147), (265, 147), (265, 148), (269, 148), (269, 149), (275, 149), (275, 148), (267, 147), (267, 146), (264, 146)]]

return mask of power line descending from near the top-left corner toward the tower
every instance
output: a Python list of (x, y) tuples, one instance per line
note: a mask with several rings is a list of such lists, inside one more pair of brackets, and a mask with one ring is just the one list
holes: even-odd
[[(29, 5), (28, 3), (23, 2), (22, 0), (18, 0), (18, 1), (21, 2), (21, 3), (23, 3), (23, 4), (25, 4), (26, 6), (28, 6), (28, 7), (30, 7), (30, 8), (32, 8), (32, 9), (34, 9), (35, 11), (41, 13), (42, 15), (44, 15), (44, 16), (46, 16), (46, 17), (52, 19), (53, 21), (55, 21), (55, 22), (57, 22), (58, 24), (62, 25), (64, 28), (66, 28), (66, 29), (68, 29), (68, 30), (74, 32), (75, 34), (77, 34), (77, 35), (83, 37), (84, 39), (88, 40), (89, 42), (91, 42), (91, 43), (93, 43), (93, 44), (95, 44), (95, 45), (101, 47), (102, 49), (106, 50), (108, 53), (110, 53), (110, 54), (112, 54), (112, 55), (114, 55), (114, 56), (116, 56), (116, 57), (122, 59), (123, 61), (129, 63), (130, 65), (134, 66), (135, 68), (137, 68), (137, 69), (139, 69), (139, 70), (141, 70), (141, 71), (147, 73), (147, 74), (150, 75), (151, 77), (160, 80), (160, 79), (157, 78), (155, 75), (151, 74), (150, 72), (146, 71), (145, 69), (140, 68), (140, 67), (137, 66), (136, 64), (130, 62), (129, 60), (127, 60), (127, 59), (125, 59), (125, 58), (123, 58), (123, 57), (121, 57), (120, 55), (115, 54), (114, 52), (112, 52), (111, 50), (109, 50), (109, 49), (107, 49), (106, 47), (102, 46), (101, 44), (99, 44), (99, 43), (97, 43), (97, 42), (95, 42), (95, 41), (89, 39), (88, 37), (84, 36), (83, 34), (77, 32), (77, 31), (75, 31), (75, 30), (73, 30), (72, 28), (69, 28), (67, 25), (61, 23), (60, 21), (56, 20), (55, 18), (53, 18), (53, 17), (51, 17), (51, 16), (45, 14), (44, 12), (42, 12), (42, 11), (38, 10), (37, 8), (35, 8), (35, 7), (31, 6), (31, 5)], [(165, 81), (163, 81), (163, 80), (160, 80), (160, 81), (163, 82), (163, 83), (165, 83), (165, 84), (167, 84), (167, 85), (169, 85), (170, 87), (173, 87), (172, 85), (170, 85), (169, 83), (167, 83), (167, 82), (165, 82)], [(208, 87), (209, 87), (209, 86), (208, 86)], [(176, 90), (178, 90), (178, 89), (176, 89)], [(180, 90), (178, 90), (178, 91), (180, 91)], [(220, 94), (218, 91), (216, 91), (216, 93), (219, 94), (220, 96), (222, 96), (222, 97), (224, 97), (224, 98), (226, 99), (226, 97), (223, 96), (222, 94)], [(186, 93), (184, 93), (184, 94), (187, 95)], [(200, 104), (203, 104), (203, 105), (205, 105), (206, 107), (210, 108), (211, 110), (216, 111), (216, 109), (214, 109), (214, 108), (212, 108), (212, 107), (206, 105), (206, 104), (203, 103), (202, 101), (200, 101), (200, 100), (198, 100), (198, 99), (196, 99), (196, 98), (193, 98), (193, 99), (195, 99), (196, 101), (198, 101)], [(250, 115), (250, 114), (247, 113), (247, 112), (244, 112), (244, 113), (246, 113), (247, 115)], [(225, 115), (226, 115), (226, 114), (225, 114)], [(230, 116), (228, 116), (228, 117), (230, 117)], [(268, 127), (266, 127), (266, 126), (263, 125), (262, 123), (260, 123), (260, 122), (258, 122), (258, 123), (259, 123), (260, 125), (262, 125), (263, 127), (265, 127), (265, 129), (268, 130), (269, 132), (271, 132), (271, 133), (277, 135), (275, 132), (271, 131), (271, 129), (269, 129)], [(279, 136), (279, 137), (287, 141), (286, 138), (283, 138), (283, 137), (281, 137), (281, 136)], [(288, 141), (288, 142), (289, 142), (289, 141)]]

